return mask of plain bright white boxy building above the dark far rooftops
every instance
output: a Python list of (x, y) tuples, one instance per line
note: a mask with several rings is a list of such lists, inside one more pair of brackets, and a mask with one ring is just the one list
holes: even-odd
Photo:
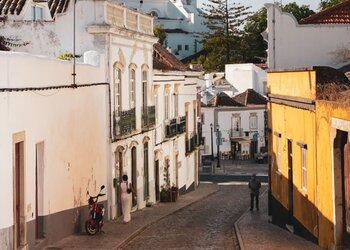
[(236, 94), (247, 89), (254, 89), (259, 94), (264, 93), (266, 72), (252, 63), (226, 64), (225, 79), (233, 85)]

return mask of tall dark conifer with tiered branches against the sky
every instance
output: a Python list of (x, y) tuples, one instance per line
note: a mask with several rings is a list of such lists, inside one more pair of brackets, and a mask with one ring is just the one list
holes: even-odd
[(203, 39), (207, 54), (199, 62), (207, 71), (223, 71), (225, 64), (242, 62), (242, 24), (250, 14), (250, 7), (228, 1), (209, 0), (204, 4), (202, 16), (210, 31)]

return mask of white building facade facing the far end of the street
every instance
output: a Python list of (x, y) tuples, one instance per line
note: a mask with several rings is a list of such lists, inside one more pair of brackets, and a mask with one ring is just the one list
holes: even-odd
[(249, 159), (261, 152), (266, 141), (265, 108), (202, 107), (202, 155), (217, 157), (219, 149), (220, 157)]

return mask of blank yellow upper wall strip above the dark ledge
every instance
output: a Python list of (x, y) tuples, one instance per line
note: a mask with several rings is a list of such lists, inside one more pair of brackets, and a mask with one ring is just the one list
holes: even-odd
[(269, 94), (314, 100), (316, 96), (315, 71), (269, 72)]

